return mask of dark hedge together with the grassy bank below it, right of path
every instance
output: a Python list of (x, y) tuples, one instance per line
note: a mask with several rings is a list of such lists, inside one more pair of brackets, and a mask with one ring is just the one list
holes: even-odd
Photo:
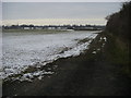
[(123, 65), (123, 72), (131, 75), (130, 61), (130, 32), (131, 32), (131, 1), (124, 2), (119, 12), (106, 17), (107, 25), (105, 32), (110, 41), (108, 44), (108, 56), (112, 62)]

